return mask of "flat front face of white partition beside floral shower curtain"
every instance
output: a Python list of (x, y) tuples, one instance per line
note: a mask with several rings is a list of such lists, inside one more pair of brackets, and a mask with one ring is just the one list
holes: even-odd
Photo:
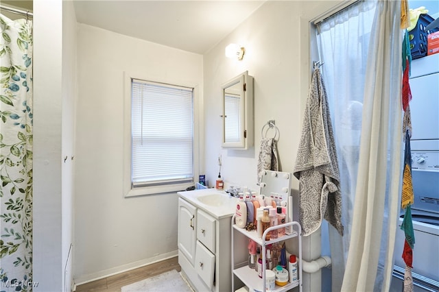
[(34, 291), (62, 291), (62, 1), (34, 0)]

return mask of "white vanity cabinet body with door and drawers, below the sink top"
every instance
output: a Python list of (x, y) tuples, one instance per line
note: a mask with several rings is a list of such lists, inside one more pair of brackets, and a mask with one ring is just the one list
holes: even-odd
[(201, 206), (191, 204), (183, 195), (178, 198), (178, 263), (195, 291), (232, 290), (233, 211), (215, 217)]

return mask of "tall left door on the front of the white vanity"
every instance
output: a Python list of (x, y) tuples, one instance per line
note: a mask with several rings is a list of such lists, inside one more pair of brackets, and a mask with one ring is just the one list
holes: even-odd
[(197, 226), (197, 208), (178, 198), (178, 249), (193, 265)]

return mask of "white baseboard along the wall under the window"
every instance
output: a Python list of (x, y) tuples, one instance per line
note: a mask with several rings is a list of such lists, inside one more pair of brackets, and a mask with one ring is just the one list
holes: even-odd
[(161, 262), (162, 260), (175, 258), (176, 256), (178, 256), (178, 250), (174, 250), (173, 252), (167, 252), (166, 254), (161, 254), (158, 256), (154, 256), (152, 258), (137, 260), (136, 262), (128, 263), (126, 265), (120, 265), (119, 267), (106, 269), (104, 271), (97, 271), (96, 273), (89, 273), (87, 275), (78, 276), (73, 279), (73, 282), (75, 284), (75, 287), (77, 287), (79, 285), (86, 284), (88, 282), (93, 282), (96, 280), (117, 275), (118, 273), (124, 273), (126, 271), (131, 271), (132, 269), (137, 269), (139, 267), (145, 267), (147, 265), (152, 265), (154, 263)]

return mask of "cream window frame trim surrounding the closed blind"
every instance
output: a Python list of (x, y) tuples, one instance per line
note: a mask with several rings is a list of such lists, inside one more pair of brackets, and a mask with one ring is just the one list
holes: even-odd
[(132, 186), (131, 182), (131, 80), (151, 80), (161, 84), (176, 84), (193, 88), (193, 179), (196, 181), (200, 173), (200, 90), (198, 84), (188, 84), (180, 80), (158, 80), (145, 76), (145, 73), (123, 72), (123, 196), (134, 197), (163, 193), (176, 193), (193, 186), (195, 182), (180, 184), (161, 184), (150, 186)]

